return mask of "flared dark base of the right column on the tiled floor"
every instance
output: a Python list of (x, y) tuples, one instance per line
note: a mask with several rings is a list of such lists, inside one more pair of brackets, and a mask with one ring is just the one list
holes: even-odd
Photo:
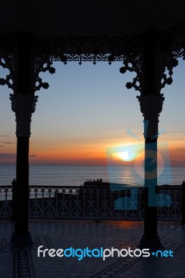
[(158, 235), (156, 238), (146, 238), (145, 235), (143, 235), (138, 247), (140, 249), (149, 248), (151, 252), (164, 248), (163, 245), (161, 245), (161, 240)]

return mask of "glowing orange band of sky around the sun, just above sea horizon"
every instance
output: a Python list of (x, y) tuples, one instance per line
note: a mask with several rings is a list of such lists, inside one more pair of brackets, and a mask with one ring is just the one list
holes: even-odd
[[(65, 141), (58, 142), (53, 139), (53, 143), (50, 144), (49, 138), (45, 140), (31, 139), (30, 144), (30, 163), (31, 164), (62, 164), (62, 165), (107, 165), (108, 155), (107, 150), (111, 148), (111, 160), (115, 165), (132, 166), (138, 154), (142, 152), (144, 146), (144, 138), (140, 136), (140, 141), (130, 140), (129, 136), (125, 136), (124, 140), (107, 138), (105, 140), (94, 140), (87, 142), (79, 140), (79, 142)], [(3, 138), (0, 136), (0, 146), (3, 150), (3, 154), (0, 155), (1, 164), (15, 164), (16, 160), (16, 139), (15, 138)], [(14, 142), (13, 142), (14, 141)], [(110, 142), (109, 142), (110, 141)], [(162, 142), (167, 144), (168, 160), (173, 167), (185, 167), (185, 146), (182, 139), (159, 141), (159, 153), (163, 149)], [(141, 146), (141, 147), (139, 147)], [(118, 148), (120, 151), (118, 152)], [(130, 149), (134, 148), (132, 157), (127, 157), (127, 152), (130, 153)], [(121, 155), (119, 155), (122, 153)], [(122, 156), (123, 155), (123, 156)], [(126, 155), (126, 156), (125, 156)], [(166, 156), (166, 152), (162, 152), (162, 156)], [(110, 158), (110, 157), (109, 157)], [(138, 158), (137, 158), (138, 159)], [(143, 158), (142, 158), (143, 159)], [(109, 159), (110, 162), (110, 159)]]

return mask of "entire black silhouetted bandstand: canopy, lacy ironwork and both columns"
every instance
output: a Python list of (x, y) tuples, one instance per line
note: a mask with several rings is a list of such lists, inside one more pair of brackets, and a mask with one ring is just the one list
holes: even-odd
[[(145, 122), (145, 224), (140, 245), (161, 246), (157, 234), (157, 137), (164, 97), (161, 88), (172, 83), (177, 58), (185, 58), (184, 0), (156, 1), (3, 1), (0, 9), (0, 65), (8, 68), (1, 85), (10, 95), (16, 115), (17, 174), (15, 231), (12, 244), (32, 244), (28, 223), (29, 137), (31, 115), (47, 89), (40, 72), (54, 74), (54, 61), (111, 64), (122, 61), (120, 72), (136, 72), (127, 88), (140, 92)], [(92, 7), (97, 7), (92, 8)], [(83, 13), (81, 10), (83, 8)], [(167, 68), (167, 73), (165, 69)], [(150, 159), (156, 161), (154, 169)]]

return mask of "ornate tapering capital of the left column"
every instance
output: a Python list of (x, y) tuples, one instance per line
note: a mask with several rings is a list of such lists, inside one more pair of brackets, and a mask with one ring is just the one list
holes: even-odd
[(12, 111), (15, 112), (16, 136), (30, 137), (31, 115), (35, 112), (38, 97), (35, 95), (10, 94)]

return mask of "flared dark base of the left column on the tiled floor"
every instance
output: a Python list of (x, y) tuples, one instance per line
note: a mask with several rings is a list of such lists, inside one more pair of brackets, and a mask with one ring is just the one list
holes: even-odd
[(12, 245), (12, 247), (20, 247), (20, 248), (31, 247), (31, 245), (33, 245), (31, 234), (26, 234), (26, 235), (13, 234), (11, 236), (10, 245)]

